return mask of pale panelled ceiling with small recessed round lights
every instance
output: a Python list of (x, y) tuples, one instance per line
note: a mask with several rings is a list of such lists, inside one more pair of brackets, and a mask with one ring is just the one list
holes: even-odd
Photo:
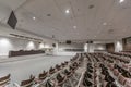
[(38, 36), (57, 40), (120, 39), (131, 33), (131, 0), (122, 1), (0, 0), (0, 21), (5, 23), (14, 10), (16, 27)]

